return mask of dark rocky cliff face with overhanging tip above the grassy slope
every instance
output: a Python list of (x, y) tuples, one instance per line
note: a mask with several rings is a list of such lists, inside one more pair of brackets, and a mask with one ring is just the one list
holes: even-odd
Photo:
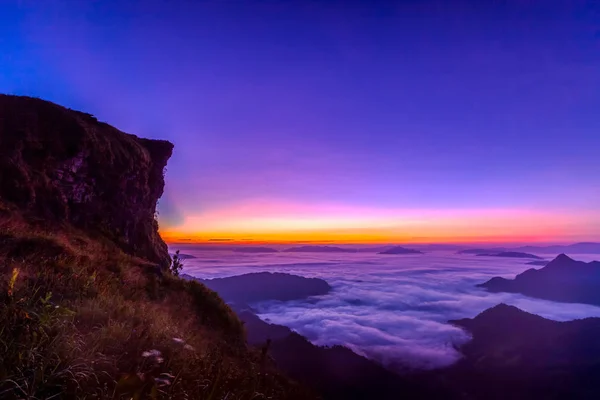
[(172, 151), (167, 141), (123, 133), (89, 114), (0, 95), (0, 203), (46, 225), (102, 235), (163, 267), (170, 259), (154, 215)]

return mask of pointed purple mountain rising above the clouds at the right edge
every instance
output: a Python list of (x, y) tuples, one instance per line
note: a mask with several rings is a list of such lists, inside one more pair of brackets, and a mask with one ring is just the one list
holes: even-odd
[(515, 279), (494, 277), (477, 286), (490, 292), (600, 305), (600, 262), (585, 263), (560, 254), (541, 269), (528, 269)]

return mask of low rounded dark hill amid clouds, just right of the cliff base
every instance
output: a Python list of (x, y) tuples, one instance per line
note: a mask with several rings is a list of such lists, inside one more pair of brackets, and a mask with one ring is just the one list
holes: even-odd
[(323, 279), (280, 272), (255, 272), (215, 279), (197, 279), (189, 275), (184, 278), (198, 280), (228, 302), (288, 301), (327, 294), (331, 290)]

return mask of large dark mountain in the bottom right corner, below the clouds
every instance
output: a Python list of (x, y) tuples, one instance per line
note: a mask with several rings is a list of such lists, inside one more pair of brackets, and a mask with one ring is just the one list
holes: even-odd
[(472, 340), (441, 371), (449, 393), (466, 399), (595, 399), (600, 382), (600, 318), (556, 322), (499, 304), (450, 321)]

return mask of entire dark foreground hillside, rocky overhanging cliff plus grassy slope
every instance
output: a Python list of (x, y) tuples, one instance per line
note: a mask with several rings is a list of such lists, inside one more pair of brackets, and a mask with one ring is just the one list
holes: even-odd
[(165, 269), (172, 145), (0, 96), (0, 398), (310, 398)]

